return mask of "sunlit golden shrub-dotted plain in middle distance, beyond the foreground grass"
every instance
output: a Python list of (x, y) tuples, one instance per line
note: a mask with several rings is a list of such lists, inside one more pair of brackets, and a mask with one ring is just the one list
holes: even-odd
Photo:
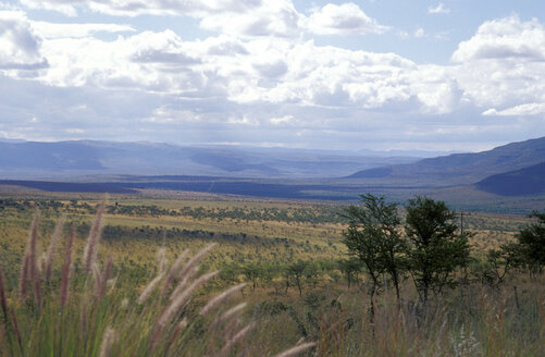
[[(69, 223), (90, 222), (101, 196), (20, 194), (3, 199), (13, 206), (5, 206), (0, 211), (0, 244), (4, 254), (22, 255), (36, 209), (42, 212), (42, 236), (48, 237), (63, 213)], [(221, 243), (214, 253), (213, 260), (218, 261), (340, 259), (346, 258), (342, 244), (345, 225), (340, 217), (346, 205), (213, 195), (112, 196), (104, 219), (103, 249), (114, 258), (132, 260), (135, 264), (153, 261), (152, 253), (162, 244), (174, 255), (186, 247), (198, 249), (214, 241)], [(476, 253), (511, 241), (528, 222), (525, 216), (518, 214), (465, 212), (463, 216), (465, 230), (475, 234), (471, 244)], [(108, 232), (115, 232), (116, 236), (109, 236)], [(169, 238), (163, 239), (163, 233)], [(225, 235), (246, 235), (253, 239), (230, 241)], [(84, 239), (85, 234), (79, 238)]]

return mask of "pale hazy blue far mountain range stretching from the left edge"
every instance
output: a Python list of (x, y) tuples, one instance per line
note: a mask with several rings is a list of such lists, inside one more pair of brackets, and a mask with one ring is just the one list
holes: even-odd
[(160, 143), (0, 141), (0, 178), (75, 175), (209, 175), (240, 177), (327, 177), (413, 157), (252, 147), (183, 147)]

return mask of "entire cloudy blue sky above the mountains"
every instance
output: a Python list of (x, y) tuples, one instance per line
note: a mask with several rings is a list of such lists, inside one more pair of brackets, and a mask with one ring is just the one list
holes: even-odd
[(536, 0), (0, 0), (0, 139), (479, 151), (545, 136)]

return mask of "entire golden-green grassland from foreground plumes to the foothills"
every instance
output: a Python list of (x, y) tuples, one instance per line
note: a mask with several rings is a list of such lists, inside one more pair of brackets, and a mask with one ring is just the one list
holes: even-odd
[[(0, 266), (9, 305), (0, 320), (0, 353), (275, 356), (295, 346), (300, 350), (294, 355), (308, 356), (540, 356), (545, 347), (543, 278), (513, 269), (498, 282), (493, 272), (501, 274), (503, 268), (483, 262), (488, 249), (515, 241), (531, 222), (525, 216), (465, 212), (473, 262), (457, 272), (456, 286), (422, 306), (409, 274), (401, 281), (401, 300), (384, 275), (370, 312), (369, 281), (360, 269), (349, 269), (343, 243), (344, 204), (176, 195), (114, 195), (103, 211), (99, 195), (0, 198)], [(97, 213), (103, 227), (95, 268), (86, 268)], [(32, 226), (38, 278), (29, 272), (22, 297)], [(58, 292), (71, 230), (72, 294), (63, 305)], [(212, 312), (201, 313), (225, 291), (231, 292)], [(184, 300), (175, 305), (181, 295)]]

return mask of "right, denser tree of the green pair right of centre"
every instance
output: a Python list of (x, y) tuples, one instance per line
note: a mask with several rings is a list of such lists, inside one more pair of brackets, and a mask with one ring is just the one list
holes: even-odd
[(456, 269), (469, 263), (470, 233), (458, 234), (456, 214), (444, 201), (417, 196), (406, 206), (405, 232), (412, 243), (409, 271), (425, 304), (430, 291), (438, 294), (456, 284)]

